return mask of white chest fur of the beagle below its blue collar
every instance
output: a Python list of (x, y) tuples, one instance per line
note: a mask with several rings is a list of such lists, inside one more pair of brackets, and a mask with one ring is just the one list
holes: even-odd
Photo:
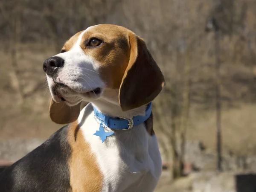
[(162, 163), (157, 138), (147, 133), (144, 123), (131, 130), (117, 130), (102, 143), (93, 135), (99, 123), (89, 104), (80, 113), (79, 125), (103, 173), (102, 192), (154, 191)]

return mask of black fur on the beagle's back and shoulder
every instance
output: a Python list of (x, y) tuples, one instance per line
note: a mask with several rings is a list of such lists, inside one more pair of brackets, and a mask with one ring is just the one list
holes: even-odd
[(66, 125), (0, 174), (1, 192), (69, 191), (71, 153)]

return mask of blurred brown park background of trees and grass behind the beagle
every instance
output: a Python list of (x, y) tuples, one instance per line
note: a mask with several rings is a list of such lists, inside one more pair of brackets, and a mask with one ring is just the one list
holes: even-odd
[(42, 64), (99, 23), (144, 38), (165, 75), (156, 192), (256, 192), (256, 0), (0, 0), (1, 164), (60, 128)]

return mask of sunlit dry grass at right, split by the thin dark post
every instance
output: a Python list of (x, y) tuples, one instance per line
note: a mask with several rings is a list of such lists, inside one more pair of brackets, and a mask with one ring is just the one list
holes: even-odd
[[(256, 105), (240, 103), (236, 107), (222, 111), (222, 137), (224, 152), (235, 154), (256, 154)], [(191, 112), (190, 140), (201, 140), (215, 150), (215, 111)]]

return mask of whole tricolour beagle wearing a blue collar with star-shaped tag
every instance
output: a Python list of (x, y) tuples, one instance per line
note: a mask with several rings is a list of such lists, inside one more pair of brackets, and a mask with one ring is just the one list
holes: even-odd
[(165, 81), (143, 39), (122, 26), (91, 26), (43, 69), (49, 115), (67, 125), (3, 171), (0, 192), (154, 191), (162, 163), (151, 101)]

